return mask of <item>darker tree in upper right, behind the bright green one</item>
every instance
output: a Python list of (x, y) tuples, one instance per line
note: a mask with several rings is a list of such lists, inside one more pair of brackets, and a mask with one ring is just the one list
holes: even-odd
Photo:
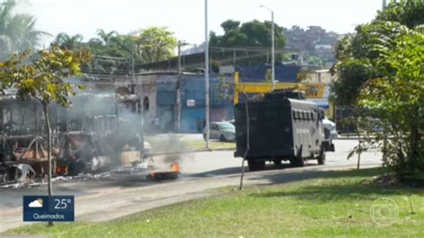
[(376, 46), (384, 39), (387, 39), (386, 43), (394, 42), (394, 39), (408, 28), (414, 29), (424, 24), (422, 13), (424, 13), (422, 0), (392, 2), (384, 11), (377, 13), (374, 21), (358, 26), (356, 34), (348, 35), (337, 42), (336, 63), (332, 67), (333, 74), (338, 78), (332, 86), (333, 99), (337, 105), (352, 106), (359, 95), (360, 86), (369, 79), (382, 76), (382, 72), (367, 67), (368, 60), (380, 57)]

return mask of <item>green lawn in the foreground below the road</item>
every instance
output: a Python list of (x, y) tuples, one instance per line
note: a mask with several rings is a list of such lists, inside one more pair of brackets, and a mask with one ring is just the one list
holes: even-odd
[[(377, 169), (328, 172), (310, 180), (259, 186), (157, 208), (103, 223), (30, 225), (7, 234), (54, 237), (328, 237), (424, 234), (424, 190), (369, 183)], [(272, 179), (272, 177), (270, 177)], [(394, 200), (399, 216), (378, 225), (370, 209), (378, 199)], [(411, 200), (415, 215), (411, 214)], [(380, 206), (381, 207), (381, 206)], [(382, 209), (382, 215), (386, 209)]]

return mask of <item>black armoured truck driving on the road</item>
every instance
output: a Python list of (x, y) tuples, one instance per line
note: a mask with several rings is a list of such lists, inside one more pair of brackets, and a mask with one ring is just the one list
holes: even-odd
[(234, 157), (247, 159), (250, 171), (264, 169), (267, 161), (276, 166), (287, 160), (293, 166), (306, 166), (309, 159), (317, 159), (324, 165), (325, 152), (334, 150), (324, 132), (324, 111), (292, 96), (274, 91), (235, 106)]

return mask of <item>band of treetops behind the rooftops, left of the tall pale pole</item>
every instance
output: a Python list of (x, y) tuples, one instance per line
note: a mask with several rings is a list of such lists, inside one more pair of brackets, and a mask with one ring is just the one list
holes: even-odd
[(86, 48), (93, 55), (84, 72), (130, 74), (132, 61), (135, 68), (140, 64), (162, 61), (174, 55), (177, 40), (165, 27), (151, 27), (130, 34), (98, 30), (98, 37), (83, 42), (81, 35), (60, 33), (55, 42), (65, 49)]

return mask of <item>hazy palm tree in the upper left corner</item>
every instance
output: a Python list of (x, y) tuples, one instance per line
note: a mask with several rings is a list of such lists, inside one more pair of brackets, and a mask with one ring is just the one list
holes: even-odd
[(40, 39), (48, 35), (36, 30), (36, 20), (24, 13), (13, 14), (16, 1), (6, 0), (0, 4), (0, 60), (18, 50), (38, 46)]

